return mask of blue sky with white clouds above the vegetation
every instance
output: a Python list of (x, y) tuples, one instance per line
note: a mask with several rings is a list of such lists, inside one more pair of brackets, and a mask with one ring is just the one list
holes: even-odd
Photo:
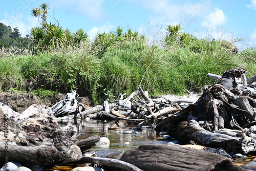
[(40, 26), (31, 10), (41, 3), (50, 5), (49, 21), (56, 23), (54, 12), (63, 29), (82, 28), (92, 40), (120, 26), (157, 41), (167, 25), (181, 24), (198, 38), (235, 41), (239, 50), (256, 47), (256, 0), (2, 0), (0, 23), (26, 36)]

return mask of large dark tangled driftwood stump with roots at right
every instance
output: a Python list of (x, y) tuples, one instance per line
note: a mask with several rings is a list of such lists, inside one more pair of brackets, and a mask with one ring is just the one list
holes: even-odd
[(229, 153), (255, 152), (256, 129), (252, 134), (248, 130), (256, 124), (256, 89), (247, 86), (245, 74), (243, 69), (227, 70), (217, 84), (203, 87), (203, 94), (195, 103), (157, 123), (156, 131), (168, 132), (187, 143), (193, 140), (221, 147)]

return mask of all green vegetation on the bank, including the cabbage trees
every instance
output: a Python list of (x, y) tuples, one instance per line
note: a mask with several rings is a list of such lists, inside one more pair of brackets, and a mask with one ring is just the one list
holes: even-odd
[(216, 82), (207, 73), (244, 68), (250, 77), (256, 71), (255, 49), (239, 52), (232, 40), (198, 39), (182, 32), (181, 25), (167, 26), (165, 36), (153, 45), (145, 35), (122, 27), (98, 33), (90, 41), (82, 29), (71, 33), (49, 24), (48, 10), (46, 4), (32, 10), (41, 24), (31, 28), (27, 39), (33, 48), (2, 45), (0, 91), (47, 96), (77, 90), (97, 103), (130, 94), (139, 86), (150, 95), (200, 92), (202, 86)]

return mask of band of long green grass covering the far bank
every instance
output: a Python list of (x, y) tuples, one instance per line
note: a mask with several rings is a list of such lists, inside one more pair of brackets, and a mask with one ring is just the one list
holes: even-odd
[(256, 69), (255, 49), (234, 53), (231, 43), (223, 40), (198, 39), (175, 48), (123, 40), (99, 51), (89, 42), (37, 55), (0, 51), (0, 90), (23, 89), (42, 97), (77, 90), (99, 103), (139, 86), (150, 95), (200, 92), (216, 83), (207, 73), (244, 68), (250, 77)]

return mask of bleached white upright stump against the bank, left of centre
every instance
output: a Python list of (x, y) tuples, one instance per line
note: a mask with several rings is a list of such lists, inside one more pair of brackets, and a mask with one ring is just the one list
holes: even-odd
[(54, 117), (63, 117), (74, 113), (77, 109), (76, 91), (67, 93), (65, 99), (52, 106)]

